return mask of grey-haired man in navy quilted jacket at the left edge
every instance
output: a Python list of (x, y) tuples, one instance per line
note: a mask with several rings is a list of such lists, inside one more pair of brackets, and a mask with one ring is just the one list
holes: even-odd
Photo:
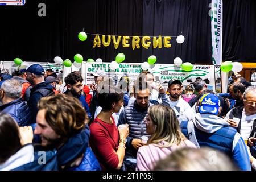
[(9, 79), (1, 85), (2, 104), (0, 111), (10, 114), (19, 126), (30, 125), (30, 109), (22, 100), (22, 84), (18, 80)]

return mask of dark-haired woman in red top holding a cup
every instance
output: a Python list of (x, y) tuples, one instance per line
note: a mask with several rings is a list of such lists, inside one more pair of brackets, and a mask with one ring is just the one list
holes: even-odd
[(119, 170), (125, 157), (129, 127), (126, 124), (117, 129), (112, 114), (118, 113), (123, 106), (123, 93), (110, 87), (101, 91), (98, 103), (102, 110), (90, 125), (90, 146), (102, 170)]

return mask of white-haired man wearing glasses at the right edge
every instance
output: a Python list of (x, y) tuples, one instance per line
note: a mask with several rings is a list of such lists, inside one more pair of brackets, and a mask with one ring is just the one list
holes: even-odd
[[(244, 106), (243, 106), (244, 105)], [(233, 108), (226, 114), (225, 120), (247, 144), (249, 137), (256, 137), (256, 88), (249, 87), (243, 93), (243, 105)]]

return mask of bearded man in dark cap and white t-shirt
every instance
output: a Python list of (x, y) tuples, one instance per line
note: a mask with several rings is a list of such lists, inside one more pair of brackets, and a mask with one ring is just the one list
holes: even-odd
[(183, 115), (185, 112), (189, 111), (189, 113), (192, 113), (191, 107), (189, 106), (188, 102), (180, 97), (182, 93), (182, 87), (182, 82), (179, 80), (172, 79), (168, 82), (171, 108), (174, 110), (176, 109), (175, 113), (179, 121), (182, 120), (181, 115)]

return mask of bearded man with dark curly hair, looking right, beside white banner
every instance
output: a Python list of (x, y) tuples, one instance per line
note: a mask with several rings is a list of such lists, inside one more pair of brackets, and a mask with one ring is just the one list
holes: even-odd
[(82, 78), (80, 72), (75, 71), (75, 72), (69, 73), (68, 76), (65, 77), (65, 84), (67, 86), (67, 91), (64, 92), (64, 94), (67, 94), (68, 96), (76, 97), (81, 102), (82, 107), (84, 107), (90, 119), (92, 118), (92, 115), (90, 114), (89, 106), (85, 101), (85, 97), (82, 94), (83, 80), (84, 78)]

